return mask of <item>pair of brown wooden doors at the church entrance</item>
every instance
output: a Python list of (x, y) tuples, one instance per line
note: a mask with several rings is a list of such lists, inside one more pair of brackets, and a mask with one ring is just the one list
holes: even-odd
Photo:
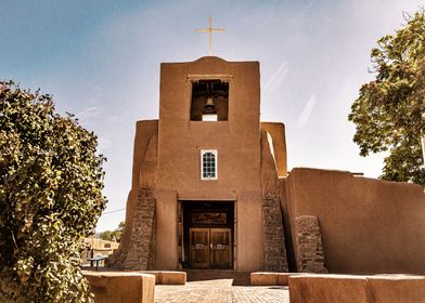
[(232, 268), (231, 228), (192, 227), (189, 234), (192, 268)]

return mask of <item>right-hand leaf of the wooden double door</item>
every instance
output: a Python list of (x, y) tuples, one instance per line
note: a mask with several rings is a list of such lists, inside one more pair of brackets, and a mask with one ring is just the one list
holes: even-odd
[(210, 228), (209, 266), (211, 268), (230, 268), (232, 260), (231, 229)]

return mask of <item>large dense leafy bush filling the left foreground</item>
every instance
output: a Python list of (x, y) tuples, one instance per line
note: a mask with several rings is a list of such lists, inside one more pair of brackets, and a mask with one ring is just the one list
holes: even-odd
[(81, 239), (106, 200), (96, 136), (0, 81), (0, 302), (90, 302)]

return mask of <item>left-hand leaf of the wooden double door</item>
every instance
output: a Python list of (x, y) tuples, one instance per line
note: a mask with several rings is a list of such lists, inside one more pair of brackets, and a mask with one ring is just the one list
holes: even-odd
[(209, 267), (209, 228), (190, 228), (190, 261), (195, 268)]

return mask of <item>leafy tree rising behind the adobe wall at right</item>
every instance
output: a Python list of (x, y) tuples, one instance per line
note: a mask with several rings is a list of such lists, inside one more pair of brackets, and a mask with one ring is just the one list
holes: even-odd
[(384, 180), (425, 186), (421, 136), (425, 134), (425, 15), (404, 14), (405, 24), (372, 50), (375, 80), (360, 89), (348, 119), (360, 155), (389, 152)]

